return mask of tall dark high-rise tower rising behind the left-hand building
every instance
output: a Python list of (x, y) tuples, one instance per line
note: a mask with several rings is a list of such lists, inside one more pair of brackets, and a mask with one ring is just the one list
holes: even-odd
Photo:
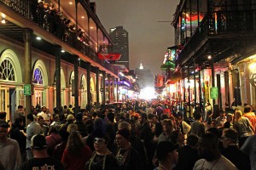
[(113, 53), (121, 54), (121, 59), (116, 60), (115, 64), (125, 65), (129, 69), (128, 31), (123, 26), (117, 26), (110, 29), (109, 36), (114, 42)]

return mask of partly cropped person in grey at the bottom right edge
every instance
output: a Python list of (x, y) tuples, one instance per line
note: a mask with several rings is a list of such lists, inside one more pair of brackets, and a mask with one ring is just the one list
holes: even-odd
[(256, 169), (256, 135), (249, 136), (241, 146), (241, 151), (250, 157), (251, 169)]

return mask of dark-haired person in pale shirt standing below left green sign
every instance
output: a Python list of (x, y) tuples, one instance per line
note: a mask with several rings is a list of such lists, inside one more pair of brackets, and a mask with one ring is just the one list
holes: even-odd
[(31, 139), (33, 135), (41, 133), (41, 127), (37, 122), (34, 121), (34, 116), (32, 116), (32, 114), (28, 114), (26, 119), (28, 122), (26, 127), (26, 157), (27, 160), (30, 160), (33, 158), (33, 153), (31, 150)]

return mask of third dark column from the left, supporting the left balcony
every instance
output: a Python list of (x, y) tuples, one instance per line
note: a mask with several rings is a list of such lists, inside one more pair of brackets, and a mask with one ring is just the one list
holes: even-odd
[(79, 56), (73, 55), (75, 115), (79, 113)]

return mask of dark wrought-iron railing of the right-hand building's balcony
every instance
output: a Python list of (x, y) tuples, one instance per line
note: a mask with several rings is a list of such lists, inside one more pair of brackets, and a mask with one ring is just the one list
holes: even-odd
[[(256, 10), (216, 11), (205, 15), (178, 54), (178, 60), (183, 62), (195, 49), (205, 42), (207, 37), (214, 35), (239, 35), (245, 33), (256, 33)], [(256, 34), (255, 34), (256, 35)], [(225, 38), (225, 37), (223, 37)], [(214, 49), (213, 49), (214, 50)]]

